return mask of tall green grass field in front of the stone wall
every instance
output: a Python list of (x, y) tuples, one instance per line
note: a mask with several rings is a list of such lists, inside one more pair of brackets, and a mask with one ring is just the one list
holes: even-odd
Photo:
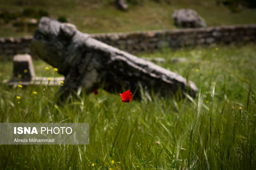
[[(90, 145), (0, 145), (0, 168), (255, 169), (255, 54), (255, 44), (140, 54), (165, 58), (157, 64), (194, 81), (199, 92), (195, 99), (163, 98), (139, 89), (142, 99), (130, 102), (135, 135), (129, 106), (119, 96), (123, 91), (82, 92), (56, 105), (59, 87), (19, 91), (0, 83), (1, 122), (90, 123)], [(12, 62), (0, 64), (0, 80), (9, 79)], [(34, 65), (39, 76), (45, 75), (46, 63), (35, 60)]]

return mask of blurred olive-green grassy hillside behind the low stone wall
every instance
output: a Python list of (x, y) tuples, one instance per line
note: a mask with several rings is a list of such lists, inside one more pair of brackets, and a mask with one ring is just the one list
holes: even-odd
[[(138, 30), (159, 30), (176, 28), (172, 13), (179, 8), (197, 10), (208, 26), (255, 23), (256, 9), (243, 7), (240, 12), (232, 13), (227, 6), (215, 0), (152, 1), (144, 0), (135, 5), (129, 3), (128, 11), (120, 11), (114, 0), (76, 0), (76, 1), (39, 1), (39, 0), (0, 0), (0, 11), (19, 12), (25, 9), (43, 10), (52, 18), (66, 17), (68, 22), (82, 32), (127, 32)], [(33, 18), (33, 16), (31, 16)], [(26, 20), (26, 18), (24, 19)], [(33, 35), (35, 26), (14, 27), (14, 24), (1, 21), (0, 36)]]

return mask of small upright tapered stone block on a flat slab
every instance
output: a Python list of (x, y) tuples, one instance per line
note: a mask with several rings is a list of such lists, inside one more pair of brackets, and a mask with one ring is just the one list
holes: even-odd
[(28, 54), (17, 54), (13, 57), (13, 81), (30, 81), (35, 77), (32, 58)]

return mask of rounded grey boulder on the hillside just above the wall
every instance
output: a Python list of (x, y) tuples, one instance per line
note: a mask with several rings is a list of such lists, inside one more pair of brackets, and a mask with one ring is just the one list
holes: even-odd
[(193, 9), (179, 9), (173, 12), (172, 17), (176, 26), (183, 28), (206, 27), (206, 22)]

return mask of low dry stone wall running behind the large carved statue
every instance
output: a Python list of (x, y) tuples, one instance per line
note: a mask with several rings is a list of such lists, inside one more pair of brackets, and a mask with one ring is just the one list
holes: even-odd
[[(103, 33), (91, 34), (91, 36), (108, 45), (135, 54), (152, 52), (163, 47), (179, 48), (209, 45), (212, 43), (256, 43), (256, 24), (128, 33)], [(0, 37), (0, 56), (30, 53), (29, 44), (31, 39), (32, 36), (17, 38)]]

